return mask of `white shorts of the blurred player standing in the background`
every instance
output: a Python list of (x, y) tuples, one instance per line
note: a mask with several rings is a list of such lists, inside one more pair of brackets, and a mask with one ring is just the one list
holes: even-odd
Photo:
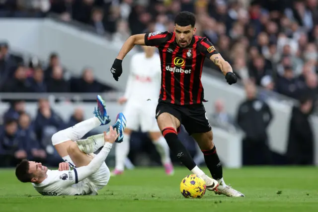
[(127, 120), (126, 128), (137, 131), (139, 127), (142, 132), (160, 132), (156, 120), (157, 102), (128, 101), (124, 115)]

